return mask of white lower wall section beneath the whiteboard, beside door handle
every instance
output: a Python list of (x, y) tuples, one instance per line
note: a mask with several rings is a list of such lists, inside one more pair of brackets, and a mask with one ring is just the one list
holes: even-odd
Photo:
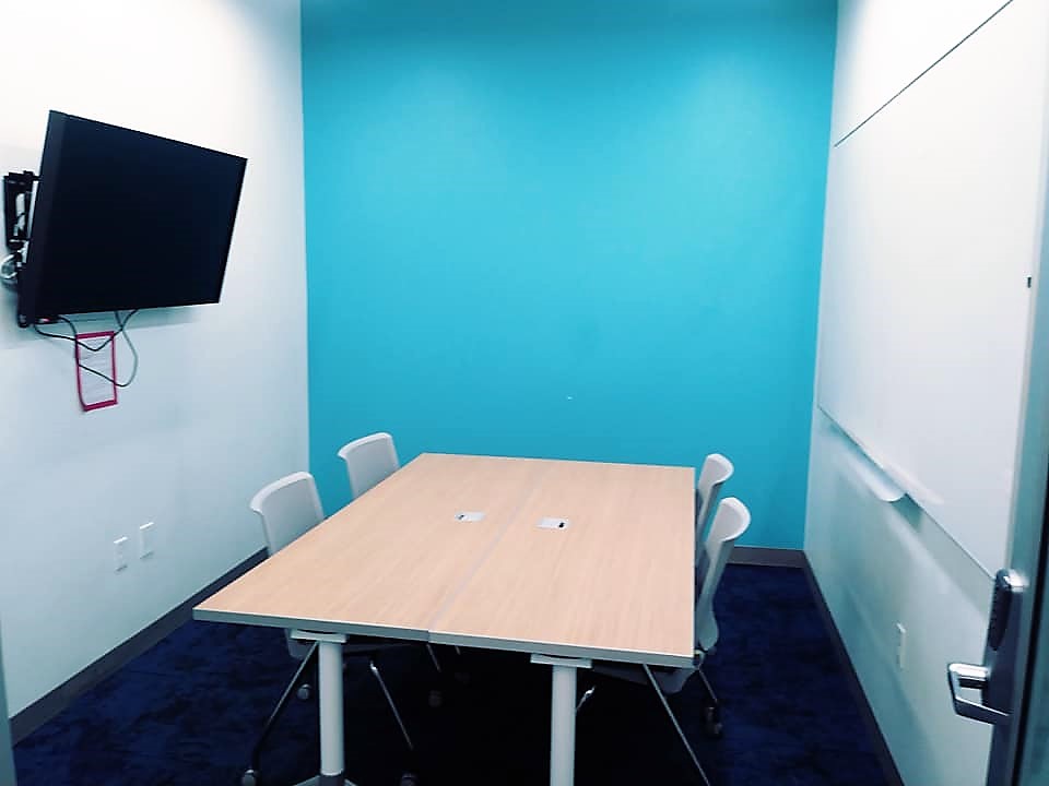
[(896, 766), (908, 786), (982, 786), (989, 727), (953, 715), (944, 669), (980, 662), (990, 579), (917, 505), (875, 499), (813, 420), (805, 552)]

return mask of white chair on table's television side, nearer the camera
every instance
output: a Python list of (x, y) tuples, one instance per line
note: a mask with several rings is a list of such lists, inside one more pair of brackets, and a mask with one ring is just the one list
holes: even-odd
[[(314, 476), (305, 472), (293, 473), (270, 484), (251, 499), (250, 507), (262, 520), (262, 529), (266, 533), (266, 550), (270, 557), (325, 520), (325, 513), (320, 505), (320, 497), (317, 493), (317, 485), (314, 483)], [(292, 657), (302, 660), (302, 663), (295, 671), (295, 676), (284, 689), (284, 693), (267, 719), (262, 731), (259, 734), (258, 740), (251, 750), (251, 764), (240, 781), (243, 786), (255, 786), (255, 784), (258, 783), (259, 759), (262, 753), (262, 746), (269, 737), (278, 717), (287, 705), (292, 692), (295, 691), (297, 687), (299, 698), (306, 699), (309, 696), (309, 686), (303, 683), (303, 677), (306, 674), (306, 669), (316, 660), (317, 643), (306, 644), (305, 642), (292, 639), (291, 631), (285, 631), (285, 638), (287, 640), (288, 653), (291, 653)], [(379, 683), (382, 695), (386, 696), (386, 701), (393, 712), (393, 717), (397, 719), (398, 726), (400, 726), (404, 742), (408, 745), (409, 751), (414, 752), (408, 728), (404, 726), (401, 714), (398, 712), (397, 705), (393, 703), (393, 698), (390, 695), (390, 691), (387, 689), (382, 675), (379, 672), (379, 668), (375, 663), (375, 655), (380, 651), (405, 645), (405, 643), (391, 642), (382, 639), (350, 636), (343, 645), (343, 655), (346, 657), (361, 656), (368, 658), (369, 670)], [(410, 774), (405, 774), (402, 783), (414, 783), (413, 777), (414, 776)]]

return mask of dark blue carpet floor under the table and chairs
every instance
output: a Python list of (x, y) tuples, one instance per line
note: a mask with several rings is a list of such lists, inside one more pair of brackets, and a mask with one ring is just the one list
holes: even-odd
[[(884, 786), (804, 574), (729, 565), (716, 608), (721, 641), (706, 671), (723, 704), (723, 739), (703, 735), (698, 679), (671, 699), (715, 786)], [(449, 684), (433, 710), (422, 647), (379, 664), (419, 746), (422, 786), (547, 781), (549, 669), (464, 651), (469, 682)], [(294, 668), (281, 631), (189, 622), (22, 740), (19, 784), (234, 786)], [(581, 687), (594, 683), (578, 716), (578, 786), (699, 783), (651, 689), (580, 672)], [(292, 701), (262, 760), (266, 786), (317, 773), (316, 718), (314, 701)], [(346, 669), (346, 762), (360, 786), (396, 786), (408, 765), (358, 660)]]

